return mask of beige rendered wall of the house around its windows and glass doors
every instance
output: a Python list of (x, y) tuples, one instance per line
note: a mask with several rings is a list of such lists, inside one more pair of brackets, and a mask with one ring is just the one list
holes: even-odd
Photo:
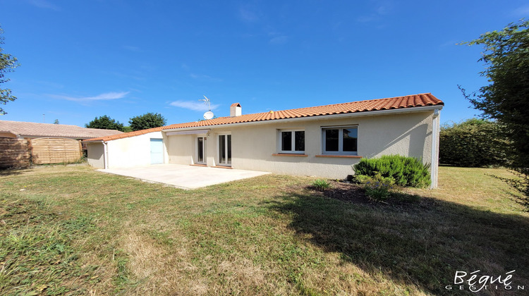
[[(352, 116), (317, 121), (292, 121), (214, 128), (208, 133), (207, 165), (218, 161), (217, 135), (231, 132), (232, 168), (270, 171), (291, 175), (316, 175), (345, 178), (353, 174), (351, 165), (360, 158), (321, 157), (322, 127), (358, 125), (358, 156), (367, 158), (384, 154), (401, 154), (422, 158), (430, 163), (432, 146), (432, 111), (380, 116)], [(436, 118), (437, 119), (437, 118)], [(278, 130), (305, 130), (307, 156), (274, 156), (279, 152)], [(190, 137), (186, 139), (184, 137)], [(179, 139), (182, 140), (179, 140)], [(169, 136), (169, 155), (176, 164), (191, 164), (195, 157), (194, 136)], [(179, 147), (178, 142), (186, 148)]]

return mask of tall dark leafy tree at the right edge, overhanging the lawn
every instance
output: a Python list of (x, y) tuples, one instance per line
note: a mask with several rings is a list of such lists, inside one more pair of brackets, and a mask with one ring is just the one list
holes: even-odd
[[(509, 24), (503, 30), (487, 32), (463, 44), (482, 45), (479, 61), (485, 63), (480, 74), (490, 84), (465, 97), (483, 117), (493, 118), (504, 126), (512, 168), (521, 173), (529, 208), (529, 21)], [(460, 87), (461, 88), (461, 87)]]

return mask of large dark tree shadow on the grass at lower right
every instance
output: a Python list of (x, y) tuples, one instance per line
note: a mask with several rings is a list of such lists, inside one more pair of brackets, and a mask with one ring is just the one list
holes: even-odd
[[(396, 283), (448, 295), (455, 292), (446, 285), (454, 286), (456, 271), (505, 278), (516, 270), (511, 293), (529, 290), (527, 218), (413, 195), (399, 195), (388, 204), (367, 202), (360, 189), (351, 188), (335, 188), (330, 198), (328, 192), (291, 190), (267, 206), (292, 217), (289, 226), (300, 240), (310, 237), (325, 252), (339, 252), (343, 261)], [(516, 292), (518, 285), (525, 290)], [(468, 286), (457, 292), (470, 293)]]

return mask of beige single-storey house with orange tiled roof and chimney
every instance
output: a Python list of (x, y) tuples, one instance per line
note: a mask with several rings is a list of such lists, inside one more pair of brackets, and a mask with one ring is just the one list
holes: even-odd
[(353, 101), (179, 123), (85, 140), (98, 168), (188, 164), (346, 178), (361, 158), (401, 154), (432, 164), (437, 185), (439, 111), (432, 94)]

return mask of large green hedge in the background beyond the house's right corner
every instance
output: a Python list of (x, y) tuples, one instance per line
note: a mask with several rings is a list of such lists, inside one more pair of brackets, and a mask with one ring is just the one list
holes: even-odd
[(468, 119), (444, 125), (439, 132), (439, 163), (453, 166), (505, 166), (509, 142), (494, 121)]

